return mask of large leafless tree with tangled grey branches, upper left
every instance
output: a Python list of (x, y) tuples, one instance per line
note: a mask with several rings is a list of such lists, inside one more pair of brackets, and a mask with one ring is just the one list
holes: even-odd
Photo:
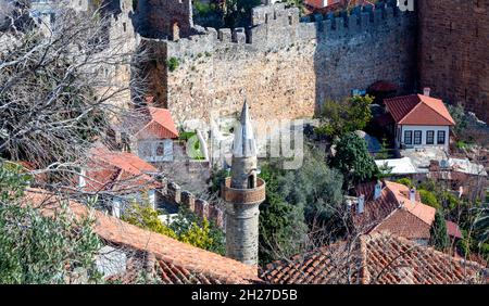
[(61, 1), (47, 20), (30, 17), (20, 1), (7, 2), (0, 13), (7, 21), (0, 31), (0, 156), (66, 182), (95, 141), (111, 144), (113, 120), (130, 104), (129, 88), (143, 81), (122, 75), (145, 54), (134, 54), (100, 10), (80, 12)]

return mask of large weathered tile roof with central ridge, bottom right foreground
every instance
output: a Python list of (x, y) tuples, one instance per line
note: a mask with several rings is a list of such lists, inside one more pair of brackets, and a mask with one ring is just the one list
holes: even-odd
[(477, 263), (379, 232), (275, 262), (261, 278), (276, 284), (452, 284), (488, 283), (488, 272)]

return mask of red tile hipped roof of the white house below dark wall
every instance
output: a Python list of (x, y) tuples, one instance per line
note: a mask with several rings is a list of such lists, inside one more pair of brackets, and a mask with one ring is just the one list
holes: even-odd
[(453, 126), (443, 101), (423, 94), (411, 94), (384, 100), (392, 118), (399, 125)]

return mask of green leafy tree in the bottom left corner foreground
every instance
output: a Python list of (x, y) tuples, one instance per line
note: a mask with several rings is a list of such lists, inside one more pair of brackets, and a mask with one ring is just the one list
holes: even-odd
[(0, 283), (101, 282), (93, 219), (76, 218), (66, 202), (54, 216), (43, 216), (25, 202), (27, 181), (18, 169), (0, 164)]

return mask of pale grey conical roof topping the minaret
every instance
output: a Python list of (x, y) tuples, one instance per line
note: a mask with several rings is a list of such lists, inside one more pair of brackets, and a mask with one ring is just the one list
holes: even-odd
[(241, 117), (235, 129), (235, 140), (233, 145), (233, 155), (236, 157), (250, 157), (256, 155), (256, 143), (254, 141), (253, 127), (251, 125), (250, 111), (248, 102), (244, 99), (242, 104)]

